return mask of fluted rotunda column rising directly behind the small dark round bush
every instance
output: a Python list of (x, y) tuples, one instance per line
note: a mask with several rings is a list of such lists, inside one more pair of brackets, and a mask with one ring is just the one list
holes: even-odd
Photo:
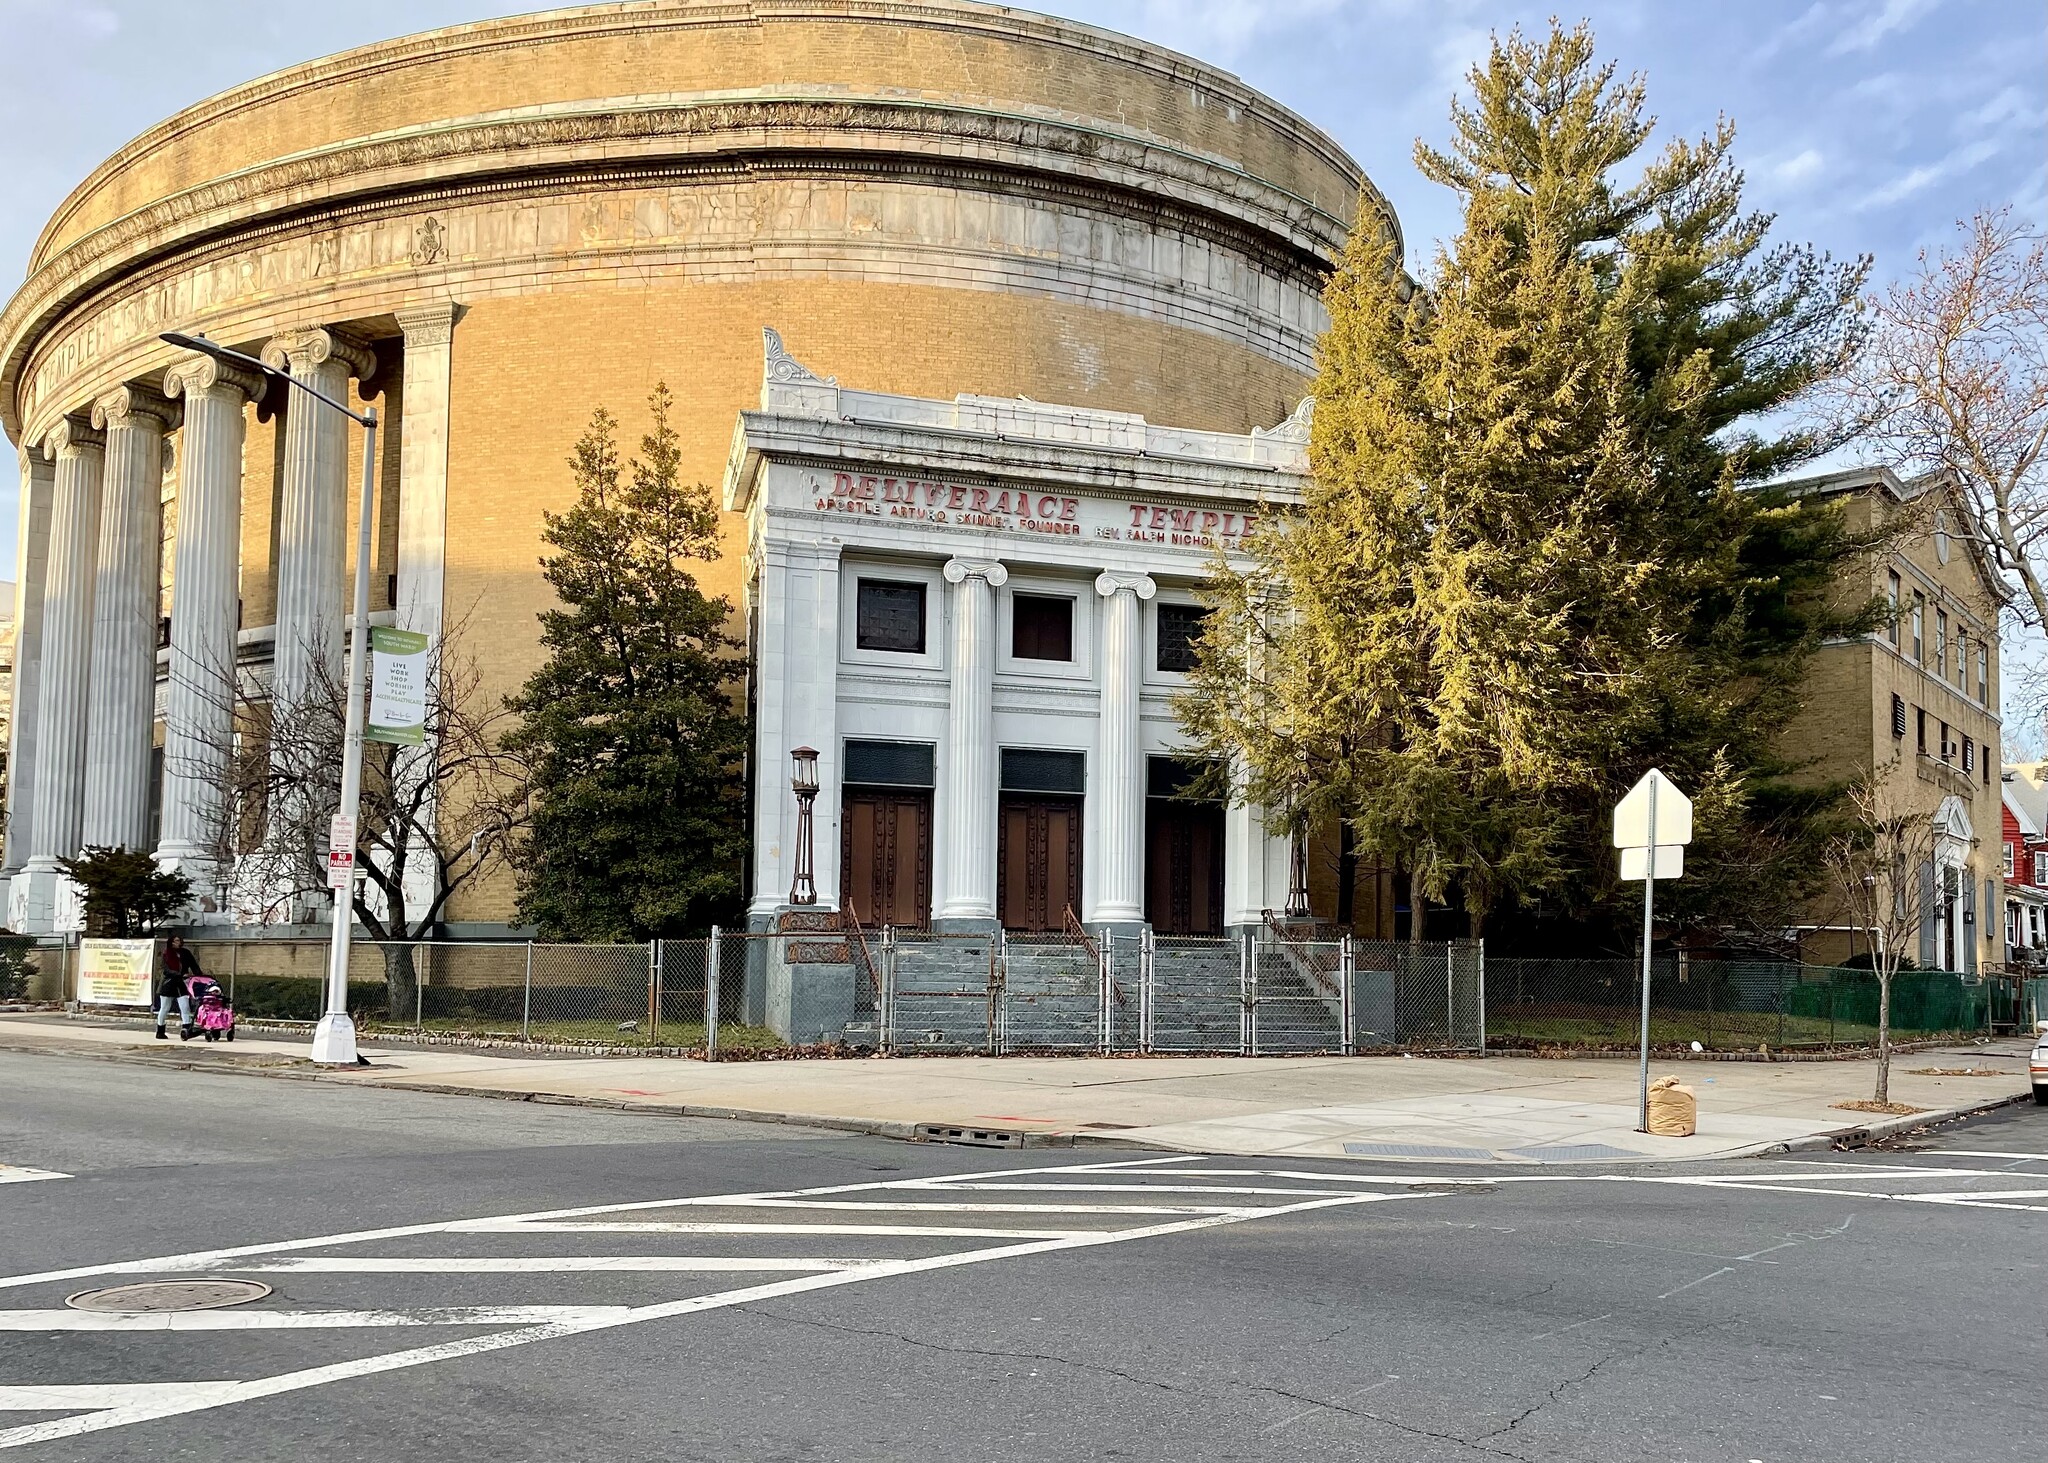
[(92, 590), (92, 688), (86, 699), (82, 840), (150, 846), (150, 742), (156, 723), (158, 510), (164, 430), (176, 408), (154, 387), (123, 385), (92, 404), (106, 434), (100, 549)]

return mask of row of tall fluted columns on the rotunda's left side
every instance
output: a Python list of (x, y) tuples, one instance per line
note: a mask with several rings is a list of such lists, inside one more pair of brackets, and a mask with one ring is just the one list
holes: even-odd
[[(401, 311), (424, 338), (422, 406), (446, 414), (457, 307)], [(377, 357), (334, 328), (299, 328), (264, 365), (346, 402)], [(84, 846), (150, 850), (152, 750), (162, 713), (162, 822), (154, 854), (219, 910), (227, 846), (223, 775), (236, 734), (242, 607), (244, 424), (266, 379), (211, 357), (125, 381), (66, 414), (23, 453), (16, 557), (14, 707), (8, 729), (8, 926), (66, 920), (59, 869)], [(276, 715), (340, 674), (346, 635), (350, 424), (301, 393), (283, 412), (276, 482)], [(406, 428), (412, 428), (408, 412)], [(406, 447), (412, 449), (412, 430)], [(401, 545), (401, 592), (430, 600), (438, 629), (446, 424), (418, 428), (416, 537)], [(166, 441), (176, 443), (176, 535), (168, 650), (160, 658), (160, 506)], [(391, 484), (385, 484), (391, 490)], [(410, 553), (408, 553), (410, 549)], [(430, 563), (426, 561), (430, 559)], [(162, 682), (162, 703), (160, 703)]]

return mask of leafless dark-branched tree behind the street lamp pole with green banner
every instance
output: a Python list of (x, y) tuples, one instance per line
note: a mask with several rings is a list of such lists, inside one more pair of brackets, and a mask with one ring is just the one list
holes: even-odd
[[(236, 906), (258, 922), (328, 897), (348, 693), (338, 668), (313, 664), (297, 707), (231, 682), (236, 731), (213, 750), (223, 793), (215, 856), (233, 871)], [(504, 748), (518, 717), (479, 680), (455, 625), (428, 652), (422, 742), (365, 746), (352, 914), (381, 943), (393, 1014), (414, 1006), (412, 943), (434, 934), (457, 891), (506, 867), (526, 830), (526, 762)]]

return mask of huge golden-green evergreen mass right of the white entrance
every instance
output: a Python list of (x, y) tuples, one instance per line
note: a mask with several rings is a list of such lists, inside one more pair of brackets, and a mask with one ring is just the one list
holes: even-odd
[[(1839, 510), (1761, 488), (1829, 443), (1765, 418), (1853, 350), (1868, 264), (1765, 244), (1729, 123), (1636, 164), (1642, 84), (1585, 27), (1495, 39), (1470, 84), (1448, 150), (1415, 152), (1462, 227), (1417, 283), (1362, 211), (1305, 510), (1219, 572), (1186, 715), (1245, 795), (1350, 820), (1475, 928), (1608, 897), (1606, 813), (1651, 764), (1708, 836), (1790, 818), (1790, 877), (1817, 809), (1774, 744), (1812, 650), (1870, 611), (1831, 602), (1864, 549)], [(1673, 908), (1747, 918), (1698, 873)]]

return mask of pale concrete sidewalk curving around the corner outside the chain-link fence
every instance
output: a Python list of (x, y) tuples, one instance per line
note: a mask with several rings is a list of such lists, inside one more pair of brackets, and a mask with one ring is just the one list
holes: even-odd
[[(784, 1123), (911, 1137), (920, 1125), (1022, 1133), (1026, 1141), (1133, 1141), (1212, 1154), (1630, 1162), (1735, 1158), (1825, 1145), (1849, 1129), (1896, 1131), (2028, 1094), (2030, 1041), (1892, 1057), (1892, 1100), (1911, 1119), (1853, 1113), (1870, 1061), (1667, 1061), (1700, 1098), (1696, 1137), (1636, 1133), (1636, 1065), (1612, 1057), (895, 1057), (705, 1063), (674, 1057), (528, 1057), (367, 1045), (373, 1065), (319, 1072), (305, 1043), (160, 1043), (147, 1027), (0, 1016), (0, 1047), (256, 1070), (360, 1086)], [(1999, 1076), (1915, 1076), (1978, 1068)], [(1802, 1143), (1804, 1145), (1804, 1143)]]

